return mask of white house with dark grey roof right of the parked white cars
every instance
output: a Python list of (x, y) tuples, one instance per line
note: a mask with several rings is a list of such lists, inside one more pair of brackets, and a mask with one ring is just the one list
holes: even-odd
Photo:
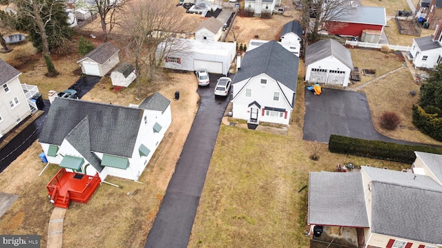
[(233, 118), (288, 125), (294, 110), (299, 58), (276, 41), (244, 54), (233, 79)]

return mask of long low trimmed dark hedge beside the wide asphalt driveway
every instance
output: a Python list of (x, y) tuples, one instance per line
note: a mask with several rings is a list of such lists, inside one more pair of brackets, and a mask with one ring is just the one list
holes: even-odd
[(338, 154), (364, 156), (399, 163), (413, 163), (414, 151), (442, 154), (442, 147), (423, 145), (400, 145), (383, 141), (366, 141), (360, 138), (330, 135), (329, 151)]

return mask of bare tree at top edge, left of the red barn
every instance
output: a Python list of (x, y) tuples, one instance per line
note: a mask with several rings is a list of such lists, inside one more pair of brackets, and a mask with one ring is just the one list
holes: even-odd
[(348, 0), (301, 0), (301, 23), (316, 41), (318, 32), (325, 23), (351, 15), (352, 6)]

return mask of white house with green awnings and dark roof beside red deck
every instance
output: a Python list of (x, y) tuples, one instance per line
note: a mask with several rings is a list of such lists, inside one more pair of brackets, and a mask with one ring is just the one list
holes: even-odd
[(170, 103), (158, 92), (137, 107), (57, 97), (39, 143), (68, 171), (137, 180), (171, 125)]

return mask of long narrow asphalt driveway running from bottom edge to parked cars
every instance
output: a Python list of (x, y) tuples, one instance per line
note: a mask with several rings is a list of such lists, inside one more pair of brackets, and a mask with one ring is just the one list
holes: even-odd
[(180, 248), (189, 242), (221, 119), (229, 103), (229, 99), (213, 95), (220, 75), (210, 77), (209, 87), (198, 89), (200, 108), (144, 247)]

